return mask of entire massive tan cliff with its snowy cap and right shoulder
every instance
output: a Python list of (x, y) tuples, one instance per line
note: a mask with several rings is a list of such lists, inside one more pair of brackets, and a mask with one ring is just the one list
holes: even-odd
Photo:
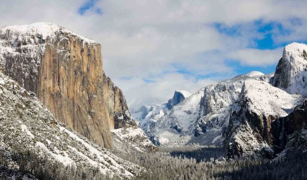
[(115, 114), (130, 113), (103, 73), (98, 42), (49, 23), (7, 26), (0, 30), (0, 53), (2, 71), (91, 141), (112, 148), (110, 129), (134, 125), (133, 119), (114, 122)]

